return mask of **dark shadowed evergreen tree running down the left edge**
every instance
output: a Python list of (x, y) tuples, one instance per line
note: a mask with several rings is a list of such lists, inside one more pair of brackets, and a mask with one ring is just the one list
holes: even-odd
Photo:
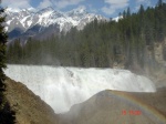
[(4, 10), (0, 8), (0, 124), (13, 124), (14, 123), (14, 112), (10, 110), (9, 103), (3, 95), (6, 90), (3, 69), (6, 68), (6, 43), (7, 33), (4, 32), (4, 27), (2, 23), (6, 18), (3, 14)]

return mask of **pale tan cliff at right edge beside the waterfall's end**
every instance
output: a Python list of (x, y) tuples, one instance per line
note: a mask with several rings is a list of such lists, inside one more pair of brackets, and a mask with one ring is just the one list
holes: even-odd
[(163, 42), (156, 42), (153, 49), (147, 46), (146, 52), (148, 62), (153, 63), (154, 69), (147, 65), (145, 72), (151, 75), (151, 80), (156, 83), (157, 87), (166, 86), (166, 39)]

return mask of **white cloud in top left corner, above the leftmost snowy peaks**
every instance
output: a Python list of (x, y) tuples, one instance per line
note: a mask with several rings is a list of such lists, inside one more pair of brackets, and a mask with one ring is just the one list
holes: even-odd
[(15, 9), (31, 8), (30, 0), (3, 0), (2, 6)]

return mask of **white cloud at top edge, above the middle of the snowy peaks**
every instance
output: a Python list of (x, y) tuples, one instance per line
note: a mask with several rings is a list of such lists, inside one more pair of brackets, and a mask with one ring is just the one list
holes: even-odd
[(54, 6), (58, 9), (63, 9), (69, 6), (79, 4), (82, 1), (84, 1), (84, 0), (42, 0), (39, 4), (39, 8)]

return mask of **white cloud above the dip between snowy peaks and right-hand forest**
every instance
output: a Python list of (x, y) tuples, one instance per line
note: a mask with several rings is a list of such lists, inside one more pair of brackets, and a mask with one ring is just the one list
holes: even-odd
[(129, 0), (104, 0), (104, 2), (107, 3), (108, 7), (103, 7), (102, 11), (105, 14), (113, 14), (116, 10), (127, 7)]

